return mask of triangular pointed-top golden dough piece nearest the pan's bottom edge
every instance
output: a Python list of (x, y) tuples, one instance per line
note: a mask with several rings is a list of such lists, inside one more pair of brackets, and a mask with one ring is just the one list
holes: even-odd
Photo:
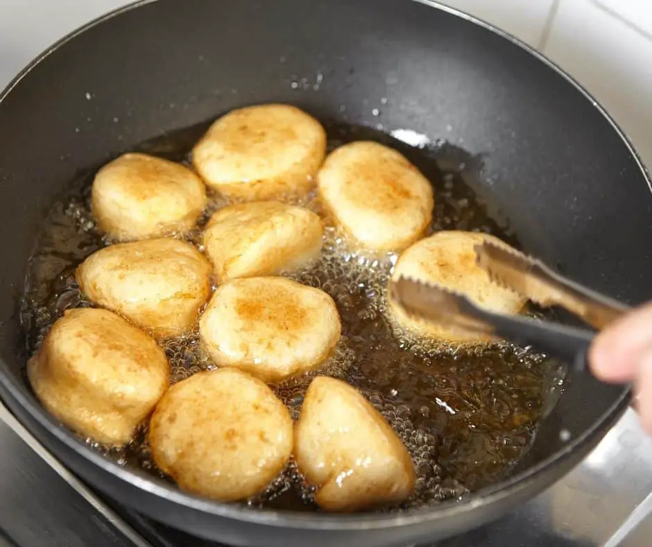
[(414, 490), (401, 439), (366, 398), (335, 378), (311, 382), (295, 425), (294, 455), (328, 511), (399, 503)]

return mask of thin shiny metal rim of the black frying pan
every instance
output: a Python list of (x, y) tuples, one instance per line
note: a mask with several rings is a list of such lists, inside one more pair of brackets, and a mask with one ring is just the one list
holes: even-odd
[[(76, 28), (71, 33), (67, 34), (65, 37), (62, 37), (60, 40), (52, 44), (34, 60), (32, 60), (22, 71), (15, 76), (15, 78), (10, 81), (8, 86), (0, 92), (0, 106), (3, 103), (4, 99), (12, 92), (12, 90), (19, 85), (20, 81), (23, 78), (28, 76), (34, 69), (38, 67), (46, 58), (48, 58), (51, 53), (60, 49), (60, 47), (67, 44), (71, 40), (74, 40), (78, 35), (85, 33), (95, 26), (109, 21), (114, 17), (117, 17), (123, 13), (130, 12), (137, 8), (141, 8), (150, 3), (155, 3), (160, 0), (137, 0), (133, 3), (129, 3), (126, 6), (117, 8), (110, 12), (93, 19), (87, 24)], [(650, 192), (652, 193), (652, 180), (649, 176), (649, 173), (644, 166), (642, 160), (640, 159), (639, 154), (637, 153), (633, 143), (630, 142), (626, 133), (620, 128), (616, 121), (608, 114), (605, 108), (601, 106), (599, 101), (594, 99), (592, 94), (587, 92), (585, 88), (578, 83), (572, 76), (569, 76), (563, 69), (561, 69), (556, 63), (552, 62), (544, 56), (539, 51), (533, 49), (522, 40), (517, 37), (501, 31), (499, 28), (489, 24), (482, 19), (473, 17), (461, 10), (456, 8), (451, 8), (440, 3), (438, 0), (413, 0), (415, 3), (421, 3), (425, 6), (447, 12), (450, 15), (460, 17), (465, 19), (471, 24), (476, 24), (481, 26), (486, 30), (495, 33), (503, 37), (504, 39), (510, 41), (517, 47), (524, 49), (524, 51), (530, 53), (532, 56), (537, 58), (540, 62), (543, 62), (544, 65), (547, 65), (550, 69), (553, 69), (559, 76), (565, 78), (567, 82), (575, 87), (578, 92), (581, 92), (585, 99), (590, 101), (592, 106), (597, 109), (597, 111), (608, 121), (608, 123), (615, 130), (617, 135), (620, 137), (622, 142), (625, 144), (626, 149), (632, 155), (633, 160), (635, 161), (637, 167), (640, 169), (644, 180), (646, 181)], [(1, 363), (6, 367), (5, 363)], [(130, 485), (137, 487), (138, 489), (155, 496), (164, 498), (178, 505), (182, 505), (190, 510), (197, 510), (205, 514), (210, 514), (214, 516), (220, 516), (228, 519), (236, 519), (238, 521), (243, 521), (246, 523), (257, 524), (257, 525), (268, 525), (275, 526), (280, 528), (293, 528), (296, 530), (381, 530), (386, 528), (397, 528), (404, 525), (411, 525), (417, 523), (424, 523), (427, 521), (435, 522), (440, 519), (447, 519), (456, 514), (463, 514), (468, 510), (472, 510), (474, 507), (479, 507), (481, 505), (493, 505), (499, 503), (500, 500), (511, 496), (515, 491), (521, 491), (526, 489), (526, 487), (533, 482), (541, 473), (544, 473), (549, 467), (558, 464), (558, 462), (567, 459), (567, 457), (574, 451), (579, 451), (585, 446), (594, 446), (600, 439), (600, 432), (608, 426), (610, 429), (617, 419), (624, 412), (628, 406), (630, 400), (630, 389), (626, 388), (622, 394), (617, 398), (617, 400), (609, 407), (606, 412), (604, 412), (597, 421), (595, 421), (590, 428), (584, 430), (581, 435), (578, 435), (574, 439), (571, 439), (565, 444), (565, 446), (554, 453), (553, 455), (547, 457), (542, 462), (532, 466), (531, 468), (518, 473), (514, 476), (511, 476), (507, 480), (497, 483), (496, 485), (491, 485), (484, 489), (474, 492), (469, 496), (465, 496), (463, 500), (447, 500), (438, 505), (422, 507), (415, 510), (406, 510), (405, 512), (387, 514), (387, 513), (370, 513), (370, 514), (350, 514), (350, 515), (338, 515), (338, 514), (314, 514), (314, 513), (300, 513), (300, 512), (290, 512), (290, 511), (281, 511), (281, 510), (252, 510), (249, 507), (243, 507), (242, 505), (234, 505), (229, 503), (220, 503), (216, 500), (210, 500), (208, 498), (203, 498), (196, 496), (194, 494), (186, 494), (181, 491), (175, 485), (168, 485), (154, 478), (144, 478), (141, 473), (138, 473), (135, 470), (127, 469), (123, 466), (108, 460), (108, 458), (103, 457), (100, 453), (93, 451), (92, 448), (89, 448), (85, 443), (80, 441), (74, 433), (67, 430), (62, 426), (58, 421), (53, 419), (44, 407), (38, 405), (35, 401), (31, 401), (26, 393), (25, 386), (19, 385), (17, 380), (10, 376), (9, 374), (0, 373), (0, 383), (5, 389), (8, 390), (10, 394), (9, 397), (13, 398), (17, 405), (20, 405), (33, 420), (35, 420), (39, 426), (46, 429), (58, 442), (65, 445), (70, 450), (74, 451), (78, 457), (82, 457), (87, 460), (89, 463), (94, 464), (102, 471), (110, 473), (115, 478), (128, 482)]]

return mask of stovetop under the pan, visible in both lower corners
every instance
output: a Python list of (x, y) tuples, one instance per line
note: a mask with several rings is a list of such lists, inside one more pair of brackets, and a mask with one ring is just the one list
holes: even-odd
[[(0, 462), (0, 547), (218, 547), (108, 503), (1, 404)], [(651, 533), (652, 437), (628, 410), (538, 498), (436, 547), (646, 547)]]

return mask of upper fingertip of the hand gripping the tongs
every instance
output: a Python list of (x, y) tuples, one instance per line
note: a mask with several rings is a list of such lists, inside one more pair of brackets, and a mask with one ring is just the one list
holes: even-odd
[[(649, 367), (652, 369), (652, 303), (627, 314), (603, 330), (594, 340), (589, 353), (594, 375), (605, 382), (635, 380), (644, 358), (650, 361)], [(652, 382), (652, 372), (647, 375)]]

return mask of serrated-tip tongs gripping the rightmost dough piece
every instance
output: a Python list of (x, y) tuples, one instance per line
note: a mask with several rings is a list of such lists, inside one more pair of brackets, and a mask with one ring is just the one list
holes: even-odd
[(592, 328), (488, 312), (463, 294), (403, 276), (390, 284), (391, 298), (413, 317), (481, 337), (532, 346), (578, 371), (587, 367), (587, 351), (597, 330), (629, 309), (624, 303), (565, 279), (540, 260), (506, 246), (486, 241), (475, 246), (475, 253), (478, 266), (493, 283), (544, 308), (564, 308)]

